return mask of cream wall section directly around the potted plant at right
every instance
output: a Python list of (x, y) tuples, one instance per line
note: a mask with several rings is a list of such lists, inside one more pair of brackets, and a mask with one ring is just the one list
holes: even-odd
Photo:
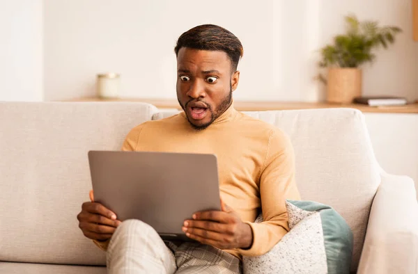
[(359, 19), (400, 26), (389, 50), (377, 51), (376, 62), (364, 67), (363, 89), (369, 95), (401, 95), (418, 99), (418, 42), (412, 40), (411, 0), (320, 0), (320, 42), (330, 42), (343, 29), (341, 17), (354, 13)]

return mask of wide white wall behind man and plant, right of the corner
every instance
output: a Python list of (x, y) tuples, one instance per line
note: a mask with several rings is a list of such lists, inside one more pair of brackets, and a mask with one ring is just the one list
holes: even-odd
[(122, 74), (123, 97), (175, 98), (178, 36), (219, 24), (245, 56), (235, 99), (316, 101), (318, 49), (343, 31), (343, 16), (378, 19), (404, 33), (364, 67), (364, 94), (418, 98), (418, 43), (410, 0), (45, 0), (45, 99), (95, 95), (95, 74)]

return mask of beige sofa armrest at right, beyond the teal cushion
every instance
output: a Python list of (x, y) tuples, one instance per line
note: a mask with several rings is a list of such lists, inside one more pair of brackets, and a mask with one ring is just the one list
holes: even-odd
[(418, 204), (412, 179), (381, 175), (357, 273), (418, 273)]

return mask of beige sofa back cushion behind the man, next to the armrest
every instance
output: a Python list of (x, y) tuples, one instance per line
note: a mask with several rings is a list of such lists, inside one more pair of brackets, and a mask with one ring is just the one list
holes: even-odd
[[(160, 112), (153, 120), (176, 112)], [(364, 115), (351, 108), (246, 112), (291, 137), (296, 183), (303, 200), (334, 207), (354, 234), (352, 270), (357, 269), (371, 202), (380, 184)]]

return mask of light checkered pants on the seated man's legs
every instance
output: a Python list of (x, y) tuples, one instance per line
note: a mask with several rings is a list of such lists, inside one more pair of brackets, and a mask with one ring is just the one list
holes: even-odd
[(237, 257), (201, 243), (164, 243), (153, 227), (126, 220), (107, 248), (107, 271), (113, 273), (242, 273)]

